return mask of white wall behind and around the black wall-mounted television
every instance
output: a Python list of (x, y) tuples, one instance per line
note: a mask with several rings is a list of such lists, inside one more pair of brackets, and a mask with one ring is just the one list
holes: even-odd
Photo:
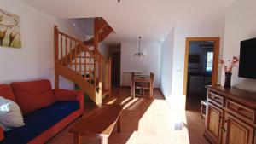
[[(256, 37), (256, 1), (238, 0), (228, 9), (225, 20), (224, 60), (240, 53), (240, 42)], [(255, 66), (252, 61), (252, 66)], [(256, 80), (238, 78), (238, 67), (233, 69), (231, 84), (235, 87), (256, 91)], [(224, 84), (224, 72), (222, 77)]]

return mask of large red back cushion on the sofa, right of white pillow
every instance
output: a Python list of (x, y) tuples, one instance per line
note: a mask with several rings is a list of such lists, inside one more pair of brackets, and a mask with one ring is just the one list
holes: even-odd
[(55, 96), (47, 79), (15, 82), (11, 84), (11, 87), (15, 93), (15, 100), (24, 114), (47, 107), (55, 102)]

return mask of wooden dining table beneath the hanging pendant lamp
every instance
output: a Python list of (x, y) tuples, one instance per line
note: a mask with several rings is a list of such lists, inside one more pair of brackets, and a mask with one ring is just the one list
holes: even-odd
[(135, 98), (135, 87), (136, 83), (148, 83), (149, 86), (149, 98), (153, 98), (153, 79), (150, 78), (149, 75), (134, 75), (131, 78), (131, 97)]

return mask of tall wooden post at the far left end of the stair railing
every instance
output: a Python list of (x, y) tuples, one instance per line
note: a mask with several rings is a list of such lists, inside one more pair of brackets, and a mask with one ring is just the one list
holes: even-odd
[(58, 72), (58, 63), (59, 63), (59, 31), (58, 26), (55, 26), (55, 89), (59, 88), (59, 72)]

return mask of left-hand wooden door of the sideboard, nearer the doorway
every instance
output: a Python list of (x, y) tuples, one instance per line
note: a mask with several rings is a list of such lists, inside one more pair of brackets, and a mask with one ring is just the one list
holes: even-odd
[(206, 133), (213, 143), (221, 142), (221, 128), (223, 123), (223, 110), (214, 106), (211, 102), (207, 104)]

